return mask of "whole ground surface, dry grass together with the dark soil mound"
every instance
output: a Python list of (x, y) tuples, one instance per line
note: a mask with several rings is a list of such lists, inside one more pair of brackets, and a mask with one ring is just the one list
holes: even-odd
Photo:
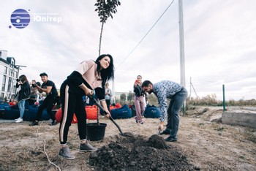
[[(241, 111), (229, 107), (227, 110)], [(154, 138), (159, 119), (144, 118), (143, 125), (135, 123), (134, 118), (118, 119), (116, 123), (122, 131), (133, 135), (123, 137), (110, 120), (100, 118), (100, 122), (107, 123), (105, 138), (90, 142), (99, 149), (96, 155), (102, 158), (100, 161), (94, 161), (93, 156), (91, 159), (93, 153), (78, 151), (77, 124), (70, 126), (68, 135), (68, 145), (76, 159), (68, 161), (58, 156), (59, 125), (49, 126), (50, 121), (33, 127), (29, 122), (0, 123), (0, 170), (58, 170), (48, 158), (68, 171), (104, 170), (103, 164), (108, 170), (256, 170), (256, 129), (211, 121), (221, 114), (222, 107), (188, 110), (181, 116), (177, 142), (163, 142), (166, 135)], [(117, 169), (113, 169), (115, 166)]]

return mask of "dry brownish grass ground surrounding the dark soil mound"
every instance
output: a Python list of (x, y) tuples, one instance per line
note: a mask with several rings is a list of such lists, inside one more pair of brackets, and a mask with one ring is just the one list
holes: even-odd
[[(256, 170), (256, 129), (211, 121), (221, 114), (221, 107), (195, 107), (187, 111), (186, 116), (181, 117), (178, 142), (168, 143), (201, 170)], [(146, 138), (157, 134), (159, 120), (144, 118), (144, 121), (141, 125), (133, 118), (116, 120), (123, 132)], [(100, 122), (108, 124), (105, 138), (91, 142), (92, 145), (99, 148), (121, 138), (116, 126), (108, 119), (101, 118)], [(48, 123), (45, 121), (33, 127), (29, 122), (0, 123), (0, 170), (56, 170), (45, 156), (43, 140), (50, 161), (61, 170), (94, 170), (88, 164), (89, 153), (78, 152), (77, 124), (70, 126), (68, 137), (69, 148), (76, 159), (67, 161), (58, 156), (59, 125), (48, 126)]]

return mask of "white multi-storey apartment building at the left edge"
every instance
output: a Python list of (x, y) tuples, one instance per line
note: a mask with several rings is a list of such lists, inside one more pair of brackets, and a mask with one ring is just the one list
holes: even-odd
[(7, 57), (7, 50), (0, 50), (0, 101), (9, 100), (16, 93), (16, 79), (19, 77), (19, 66), (15, 58)]

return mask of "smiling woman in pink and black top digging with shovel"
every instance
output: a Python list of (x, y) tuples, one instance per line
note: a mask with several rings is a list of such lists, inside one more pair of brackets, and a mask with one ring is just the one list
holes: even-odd
[(78, 133), (80, 137), (80, 151), (97, 151), (97, 148), (91, 146), (86, 140), (86, 110), (83, 103), (83, 96), (93, 96), (93, 91), (104, 110), (110, 117), (107, 104), (105, 102), (104, 86), (108, 80), (114, 78), (113, 58), (109, 54), (101, 55), (96, 61), (86, 60), (79, 64), (64, 80), (61, 85), (61, 110), (62, 118), (59, 127), (59, 140), (61, 149), (59, 156), (64, 159), (75, 159), (75, 156), (69, 151), (67, 145), (67, 134), (75, 113), (78, 119)]

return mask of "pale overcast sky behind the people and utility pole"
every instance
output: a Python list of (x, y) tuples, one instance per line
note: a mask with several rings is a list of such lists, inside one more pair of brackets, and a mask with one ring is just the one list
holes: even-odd
[[(1, 0), (0, 50), (27, 66), (20, 74), (29, 80), (47, 72), (59, 88), (81, 61), (98, 56), (101, 23), (95, 2)], [(114, 58), (116, 91), (132, 91), (137, 75), (152, 83), (181, 83), (178, 0), (171, 2), (121, 0), (113, 19), (108, 18), (101, 52)], [(255, 7), (255, 0), (183, 0), (186, 88), (190, 92), (191, 77), (192, 96), (222, 99), (224, 84), (226, 99), (256, 99)], [(12, 26), (15, 9), (29, 12), (29, 26)], [(47, 16), (61, 21), (39, 20)]]

